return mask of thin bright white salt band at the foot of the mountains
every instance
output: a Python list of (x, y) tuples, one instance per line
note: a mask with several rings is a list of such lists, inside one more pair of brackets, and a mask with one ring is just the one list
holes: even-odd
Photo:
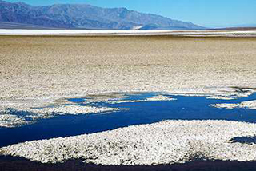
[[(138, 27), (137, 27), (138, 28)], [(134, 28), (134, 29), (137, 29)], [(69, 35), (69, 34), (122, 34), (122, 35), (188, 35), (188, 36), (254, 36), (255, 30), (21, 30), (0, 29), (0, 35)]]

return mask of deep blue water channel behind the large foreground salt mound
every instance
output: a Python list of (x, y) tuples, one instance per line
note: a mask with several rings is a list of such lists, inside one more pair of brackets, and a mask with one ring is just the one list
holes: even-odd
[[(158, 93), (126, 94), (125, 100), (143, 100)], [(217, 109), (210, 107), (216, 103), (240, 103), (256, 99), (256, 94), (236, 100), (214, 100), (206, 97), (171, 96), (177, 101), (146, 101), (109, 104), (105, 102), (90, 103), (92, 106), (106, 106), (128, 109), (114, 113), (90, 115), (66, 115), (42, 119), (32, 125), (18, 128), (0, 128), (0, 146), (12, 145), (23, 141), (49, 139), (53, 137), (75, 136), (84, 133), (98, 133), (129, 125), (150, 124), (162, 120), (229, 120), (256, 122), (254, 109)], [(77, 105), (90, 99), (72, 98), (69, 101)]]

